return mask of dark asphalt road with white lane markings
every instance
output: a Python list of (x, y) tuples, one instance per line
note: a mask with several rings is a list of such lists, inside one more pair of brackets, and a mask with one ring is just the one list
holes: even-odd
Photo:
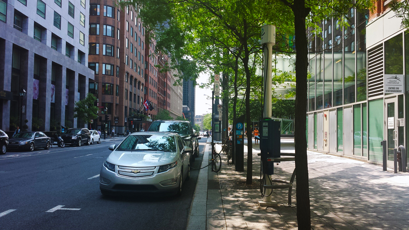
[[(205, 139), (193, 167), (199, 168)], [(108, 141), (0, 155), (0, 229), (185, 229), (198, 170), (180, 197), (105, 197), (99, 173)]]

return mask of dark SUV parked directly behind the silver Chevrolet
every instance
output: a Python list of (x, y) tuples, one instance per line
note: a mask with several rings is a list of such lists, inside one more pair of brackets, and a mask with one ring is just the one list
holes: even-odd
[(193, 156), (199, 155), (199, 132), (193, 132), (189, 121), (156, 120), (149, 126), (148, 131), (176, 132), (193, 149)]

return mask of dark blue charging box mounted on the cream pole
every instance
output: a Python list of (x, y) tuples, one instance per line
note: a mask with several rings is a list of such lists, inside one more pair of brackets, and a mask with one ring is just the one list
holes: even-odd
[(274, 174), (274, 162), (268, 162), (267, 158), (281, 156), (281, 123), (274, 120), (261, 120), (260, 124), (261, 167), (263, 174), (272, 175)]

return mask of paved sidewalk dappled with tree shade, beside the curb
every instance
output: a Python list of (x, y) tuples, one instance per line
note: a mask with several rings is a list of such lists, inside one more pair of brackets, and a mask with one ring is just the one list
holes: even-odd
[[(282, 152), (294, 152), (282, 139)], [(285, 143), (286, 142), (286, 143)], [(247, 142), (244, 143), (247, 145)], [(207, 144), (202, 167), (208, 165)], [(200, 170), (187, 229), (298, 229), (294, 181), (292, 206), (288, 189), (273, 190), (275, 208), (258, 208), (260, 152), (253, 140), (253, 185), (245, 187), (244, 172), (222, 165), (219, 173)], [(382, 171), (381, 166), (358, 160), (308, 151), (309, 193), (312, 229), (409, 229), (409, 173)], [(222, 159), (225, 163), (225, 159)], [(289, 180), (294, 162), (275, 165), (272, 178)], [(240, 183), (239, 180), (244, 181)], [(240, 188), (241, 187), (241, 188)]]

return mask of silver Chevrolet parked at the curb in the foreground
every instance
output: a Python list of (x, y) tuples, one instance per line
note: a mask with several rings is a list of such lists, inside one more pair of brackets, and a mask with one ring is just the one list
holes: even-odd
[(134, 132), (106, 158), (100, 173), (100, 190), (111, 192), (175, 192), (181, 194), (190, 177), (190, 152), (172, 132)]

